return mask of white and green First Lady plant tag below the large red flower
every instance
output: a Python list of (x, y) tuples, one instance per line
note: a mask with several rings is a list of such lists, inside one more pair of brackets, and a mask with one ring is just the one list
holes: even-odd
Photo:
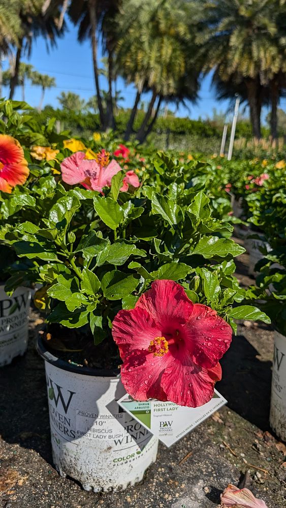
[(200, 407), (184, 407), (174, 402), (161, 402), (156, 399), (138, 402), (128, 394), (123, 395), (117, 403), (170, 447), (224, 406), (227, 400), (214, 390), (213, 398)]

